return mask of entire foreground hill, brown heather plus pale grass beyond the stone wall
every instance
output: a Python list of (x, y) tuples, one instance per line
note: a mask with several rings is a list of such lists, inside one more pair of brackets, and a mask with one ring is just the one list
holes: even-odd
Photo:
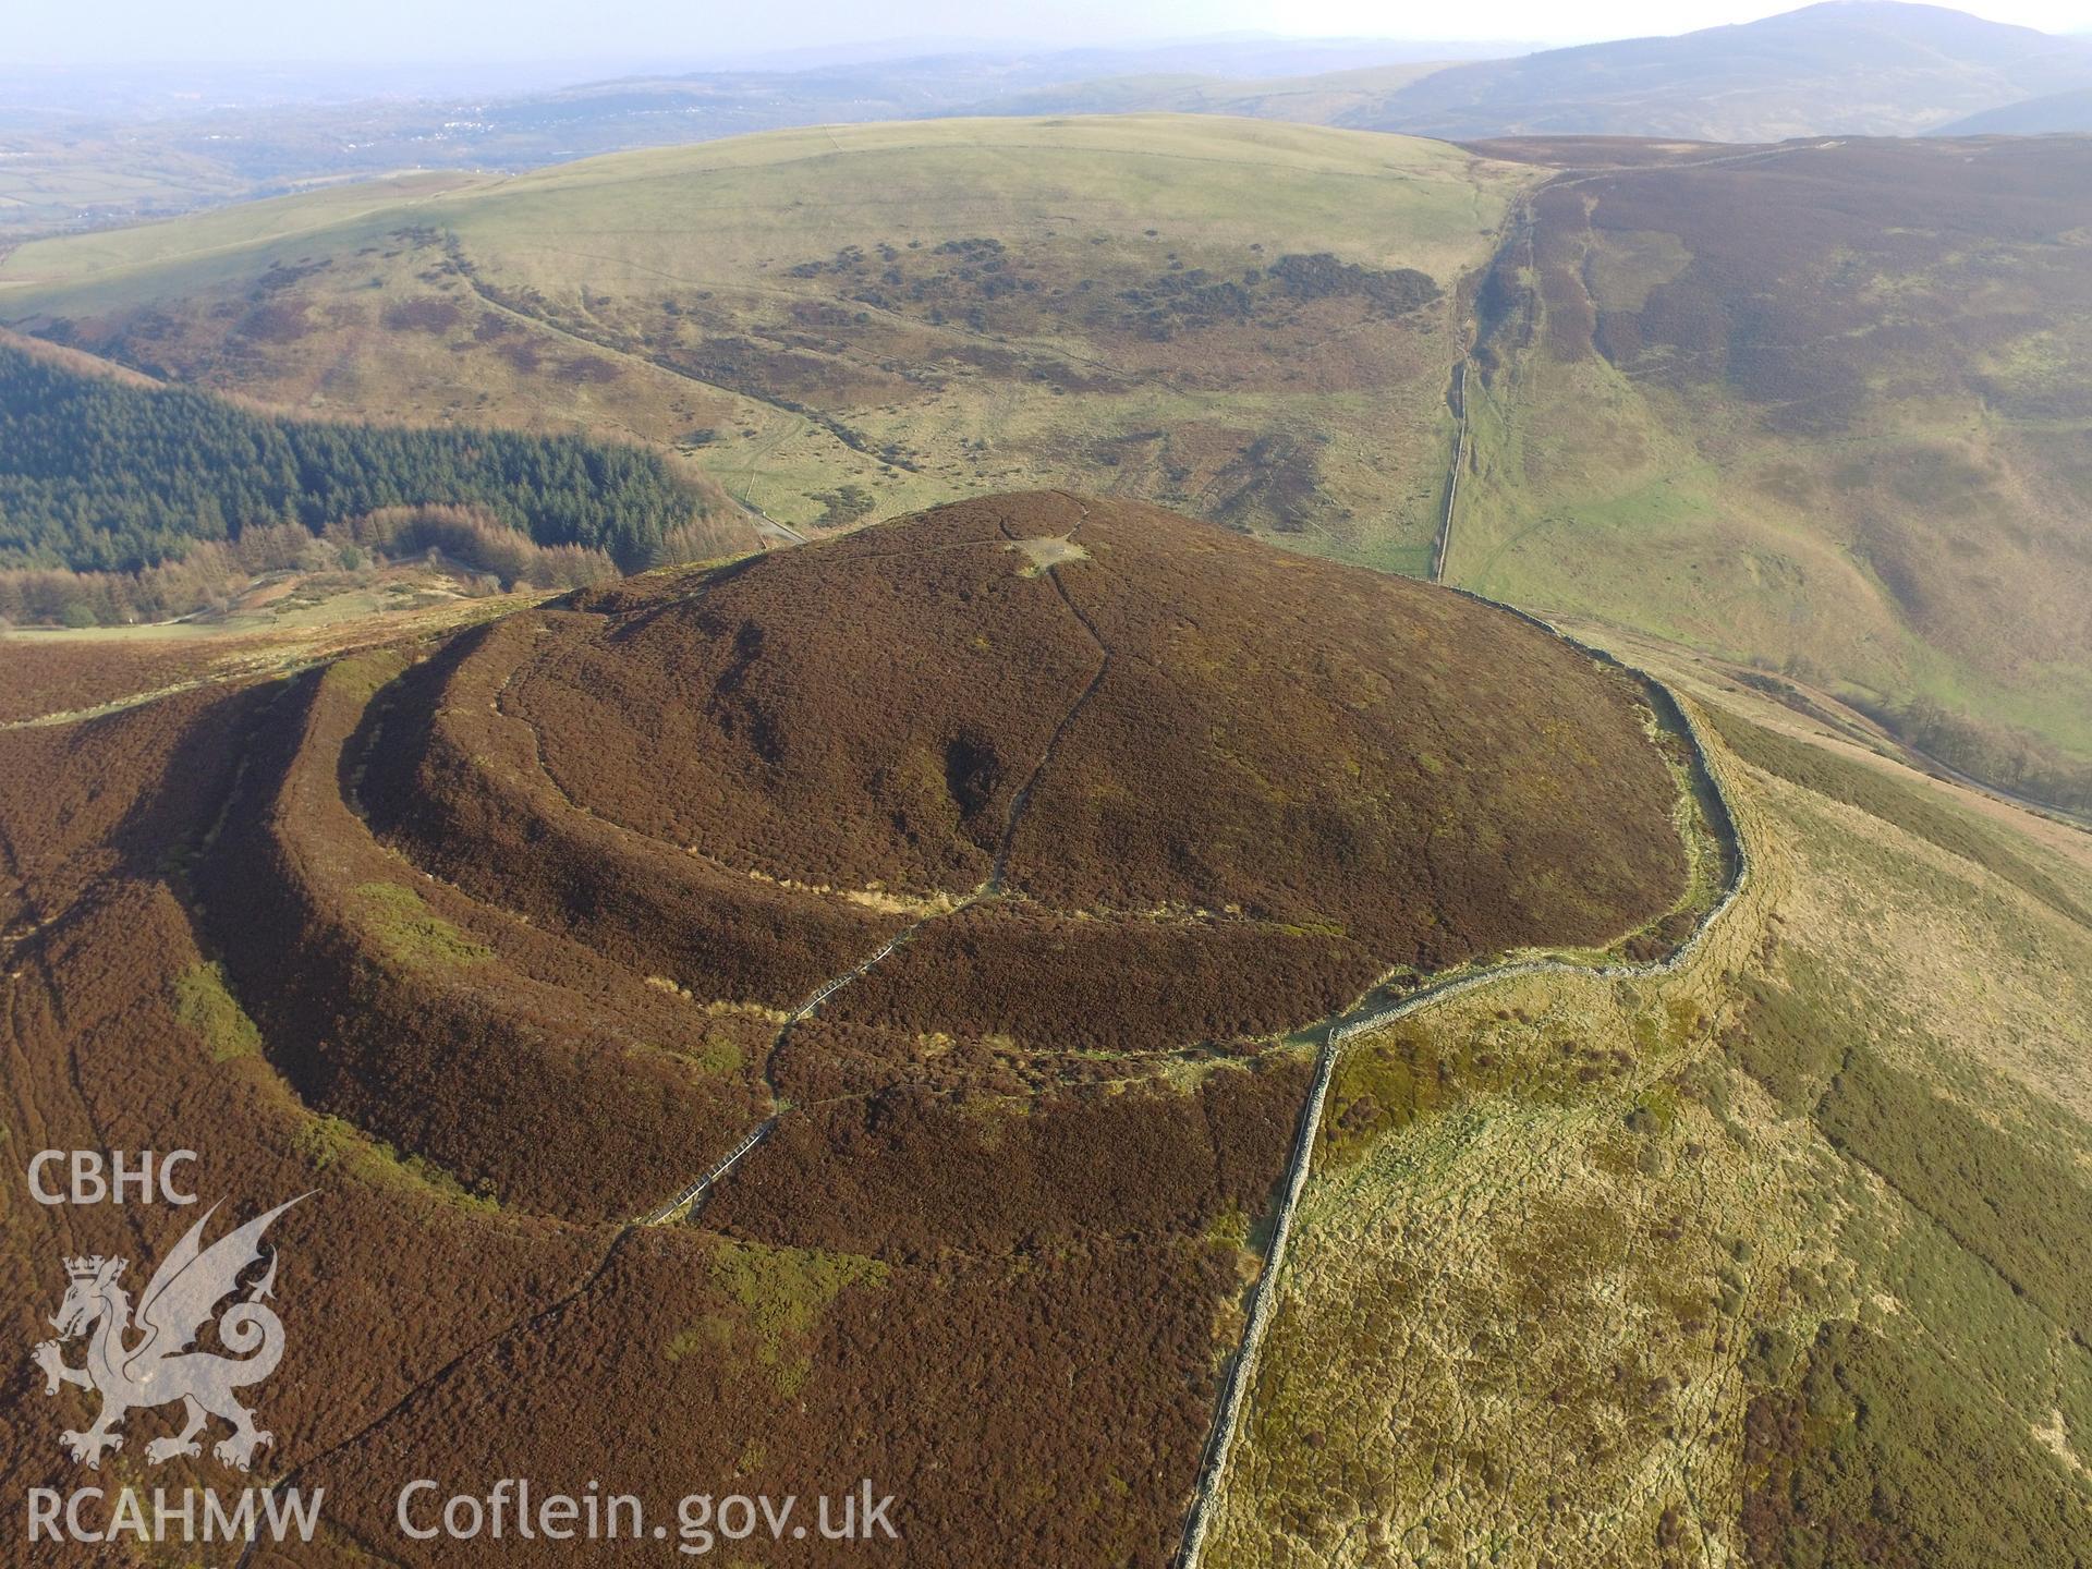
[[(266, 1569), (446, 1563), (431, 1456), (651, 1519), (870, 1469), (895, 1561), (1159, 1569), (1251, 1282), (1209, 1569), (2088, 1556), (2092, 849), (1621, 653), (1747, 883), (1678, 962), (1397, 973), (1320, 1117), (1349, 956), (1697, 908), (1642, 690), (1443, 590), (1010, 496), (0, 730), (4, 1119), (318, 1190)], [(19, 1209), (8, 1333), (184, 1226)], [(8, 1412), (0, 1485), (77, 1479), (82, 1395)]]

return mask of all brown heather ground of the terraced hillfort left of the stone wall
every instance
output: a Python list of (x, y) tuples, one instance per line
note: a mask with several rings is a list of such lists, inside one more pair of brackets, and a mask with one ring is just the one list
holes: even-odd
[[(314, 1190), (264, 1391), (262, 1473), (328, 1498), (257, 1554), (299, 1569), (452, 1563), (391, 1523), (431, 1466), (659, 1521), (870, 1475), (908, 1563), (1161, 1565), (1289, 1031), (1686, 881), (1617, 672), (1063, 494), (0, 732), (0, 770), (10, 1144)], [(61, 1251), (176, 1230), (15, 1205), (15, 1341)], [(4, 1408), (6, 1483), (63, 1481), (86, 1400), (17, 1364)]]

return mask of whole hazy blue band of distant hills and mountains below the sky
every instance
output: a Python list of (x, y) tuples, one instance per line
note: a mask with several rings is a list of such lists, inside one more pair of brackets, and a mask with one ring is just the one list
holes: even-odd
[[(948, 115), (1174, 111), (1448, 140), (1776, 142), (2092, 128), (2092, 38), (1891, 0), (1835, 0), (1738, 27), (1515, 59), (1483, 59), (1490, 50), (1220, 38), (841, 63), (795, 56), (552, 90), (479, 79), (452, 96), (397, 90), (406, 79), (387, 96), (368, 88), (349, 96), (347, 84), (297, 73), (155, 86), (63, 75), (38, 84), (0, 71), (0, 245), (395, 169), (521, 172), (791, 126)], [(172, 111), (178, 98), (192, 107)]]

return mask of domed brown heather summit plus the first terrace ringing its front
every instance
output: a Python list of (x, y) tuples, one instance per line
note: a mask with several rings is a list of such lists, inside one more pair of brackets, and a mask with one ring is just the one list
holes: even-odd
[[(529, 889), (540, 927), (613, 920), (632, 962), (766, 1006), (843, 969), (837, 950), (808, 937), (780, 973), (766, 941), (757, 975), (728, 958), (753, 918), (638, 918), (632, 889), (626, 912), (575, 904), (602, 874), (561, 824), (866, 933), (841, 952), (910, 929), (822, 1015), (881, 1029), (1257, 1036), (1387, 971), (1542, 933), (1607, 946), (1684, 889), (1678, 835), (1651, 831), (1674, 782), (1625, 678), (1406, 579), (1065, 494), (946, 506), (695, 592), (594, 590), (404, 690), (364, 799), (416, 864), (498, 902)], [(473, 764), (502, 734), (529, 738), (529, 799)]]

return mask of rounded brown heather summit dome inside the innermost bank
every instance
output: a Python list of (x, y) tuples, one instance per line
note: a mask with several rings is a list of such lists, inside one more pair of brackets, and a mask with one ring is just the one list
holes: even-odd
[(967, 502), (592, 602), (617, 630), (573, 626), (510, 688), (548, 774), (757, 877), (1433, 967), (1529, 925), (1605, 939), (1676, 874), (1642, 810), (1669, 780), (1590, 661), (1159, 508)]

